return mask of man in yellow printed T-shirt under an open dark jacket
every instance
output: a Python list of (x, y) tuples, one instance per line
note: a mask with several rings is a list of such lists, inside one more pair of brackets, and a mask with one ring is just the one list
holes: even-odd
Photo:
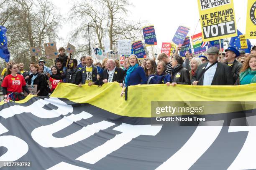
[(97, 67), (92, 65), (92, 57), (86, 56), (85, 57), (86, 65), (82, 67), (81, 74), (82, 74), (82, 82), (79, 83), (79, 86), (82, 84), (91, 85), (99, 85), (99, 81), (97, 80)]

